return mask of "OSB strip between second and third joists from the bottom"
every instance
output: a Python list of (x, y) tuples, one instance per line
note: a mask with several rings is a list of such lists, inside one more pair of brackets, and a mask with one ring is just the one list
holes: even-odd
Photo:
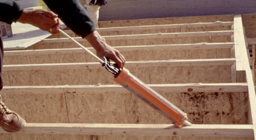
[[(144, 83), (227, 83), (230, 66), (129, 68)], [(5, 86), (112, 85), (113, 74), (101, 69), (3, 71)], [(7, 84), (6, 84), (7, 83)]]

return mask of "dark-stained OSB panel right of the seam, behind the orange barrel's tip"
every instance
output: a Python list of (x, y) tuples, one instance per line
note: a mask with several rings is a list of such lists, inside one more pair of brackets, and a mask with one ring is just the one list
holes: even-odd
[[(192, 124), (247, 124), (248, 93), (159, 93)], [(132, 93), (68, 93), (70, 123), (169, 124)]]

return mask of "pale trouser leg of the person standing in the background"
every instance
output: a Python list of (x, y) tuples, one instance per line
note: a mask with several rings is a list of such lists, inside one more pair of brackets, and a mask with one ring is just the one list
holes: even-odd
[(98, 19), (99, 19), (99, 8), (100, 8), (100, 6), (98, 6), (98, 5), (89, 5), (89, 3), (90, 3), (90, 0), (86, 0), (86, 11), (89, 14), (89, 16), (92, 18), (92, 20), (95, 24), (95, 27), (99, 28)]

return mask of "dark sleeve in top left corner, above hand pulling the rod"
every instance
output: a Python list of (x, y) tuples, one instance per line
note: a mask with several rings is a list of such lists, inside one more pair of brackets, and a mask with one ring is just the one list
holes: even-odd
[(0, 0), (0, 21), (11, 24), (17, 22), (20, 15), (22, 15), (23, 9), (19, 4), (13, 1)]

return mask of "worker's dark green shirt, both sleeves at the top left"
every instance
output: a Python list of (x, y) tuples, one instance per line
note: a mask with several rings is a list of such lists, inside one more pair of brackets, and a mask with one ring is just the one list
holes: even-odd
[[(93, 20), (78, 0), (44, 0), (46, 5), (78, 36), (86, 37), (96, 30)], [(23, 9), (13, 1), (0, 0), (0, 21), (16, 22)]]

